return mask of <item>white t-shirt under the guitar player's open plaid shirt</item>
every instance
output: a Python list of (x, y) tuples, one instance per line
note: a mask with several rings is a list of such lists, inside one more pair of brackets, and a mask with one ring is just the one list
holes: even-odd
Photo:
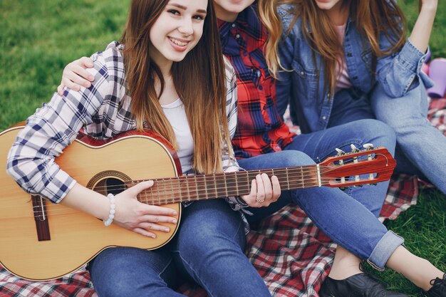
[(185, 105), (178, 98), (172, 103), (161, 105), (164, 114), (173, 127), (179, 149), (177, 155), (180, 158), (182, 172), (192, 169), (192, 157), (194, 155), (194, 140), (187, 122)]

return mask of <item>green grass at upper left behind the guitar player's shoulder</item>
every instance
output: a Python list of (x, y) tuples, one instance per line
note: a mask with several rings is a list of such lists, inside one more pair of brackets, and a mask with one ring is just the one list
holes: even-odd
[(0, 130), (51, 98), (63, 67), (120, 38), (128, 0), (0, 1)]

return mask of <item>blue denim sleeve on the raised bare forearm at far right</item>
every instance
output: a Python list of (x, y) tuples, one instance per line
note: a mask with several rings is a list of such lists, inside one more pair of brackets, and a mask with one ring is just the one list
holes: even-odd
[[(380, 48), (390, 46), (388, 39), (380, 37)], [(403, 97), (408, 91), (420, 85), (420, 79), (430, 85), (427, 75), (421, 73), (426, 54), (422, 53), (409, 40), (398, 53), (378, 58), (377, 78), (382, 83), (385, 93), (392, 98)]]

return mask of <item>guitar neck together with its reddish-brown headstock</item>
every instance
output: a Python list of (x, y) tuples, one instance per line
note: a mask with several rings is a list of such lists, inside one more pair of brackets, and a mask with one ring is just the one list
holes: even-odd
[[(375, 184), (390, 179), (395, 165), (388, 150), (378, 147), (341, 153), (316, 165), (155, 179), (154, 185), (141, 192), (138, 199), (146, 204), (164, 205), (242, 196), (249, 194), (251, 181), (262, 173), (276, 176), (282, 190)], [(126, 183), (132, 186), (138, 182), (142, 181)]]

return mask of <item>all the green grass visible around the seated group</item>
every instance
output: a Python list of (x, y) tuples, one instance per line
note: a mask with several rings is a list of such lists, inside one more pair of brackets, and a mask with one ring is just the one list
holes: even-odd
[[(129, 0), (0, 1), (0, 131), (26, 119), (51, 98), (63, 67), (120, 38)], [(413, 24), (417, 1), (400, 1)], [(439, 1), (430, 41), (432, 55), (446, 58), (446, 1)], [(418, 205), (385, 224), (406, 239), (410, 251), (446, 271), (446, 197), (422, 193)], [(421, 296), (398, 273), (378, 276), (398, 291)]]

